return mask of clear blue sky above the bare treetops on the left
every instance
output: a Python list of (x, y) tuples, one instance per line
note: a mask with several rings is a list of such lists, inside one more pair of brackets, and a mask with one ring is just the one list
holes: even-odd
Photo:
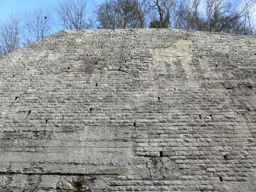
[[(0, 0), (0, 22), (4, 21), (11, 14), (22, 14), (36, 7), (53, 8), (58, 5), (59, 1), (63, 0)], [(100, 4), (100, 2), (102, 0), (88, 0), (87, 8), (90, 9), (92, 7), (92, 9), (95, 9), (95, 6)]]

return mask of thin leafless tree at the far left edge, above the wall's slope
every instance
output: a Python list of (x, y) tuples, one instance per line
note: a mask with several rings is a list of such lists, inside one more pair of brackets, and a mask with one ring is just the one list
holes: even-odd
[(0, 55), (11, 53), (20, 46), (20, 21), (15, 16), (1, 24)]

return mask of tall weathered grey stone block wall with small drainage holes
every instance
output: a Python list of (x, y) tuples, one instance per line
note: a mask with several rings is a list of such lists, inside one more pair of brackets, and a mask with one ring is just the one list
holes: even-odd
[(0, 191), (256, 191), (256, 38), (63, 31), (0, 58)]

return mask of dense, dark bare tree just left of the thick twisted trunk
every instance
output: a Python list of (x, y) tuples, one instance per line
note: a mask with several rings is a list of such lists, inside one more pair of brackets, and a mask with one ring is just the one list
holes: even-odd
[(144, 28), (145, 17), (141, 2), (137, 0), (107, 0), (97, 8), (102, 28)]

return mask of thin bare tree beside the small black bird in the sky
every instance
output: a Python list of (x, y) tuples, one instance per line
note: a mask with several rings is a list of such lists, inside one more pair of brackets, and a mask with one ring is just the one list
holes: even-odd
[(51, 14), (50, 10), (38, 8), (26, 13), (25, 27), (23, 31), (25, 43), (40, 41), (50, 34), (51, 29)]

